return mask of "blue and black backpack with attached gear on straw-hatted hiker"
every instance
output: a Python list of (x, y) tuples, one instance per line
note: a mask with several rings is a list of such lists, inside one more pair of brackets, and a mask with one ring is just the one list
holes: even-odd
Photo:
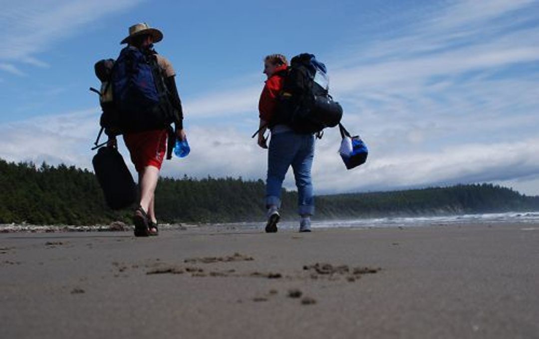
[(117, 136), (167, 128), (167, 159), (171, 159), (176, 137), (170, 124), (175, 121), (176, 113), (157, 64), (156, 52), (141, 52), (128, 46), (117, 60), (99, 60), (94, 69), (101, 89), (91, 87), (90, 90), (99, 94), (102, 114), (101, 130), (92, 150), (106, 144), (99, 144), (103, 130), (108, 136)]

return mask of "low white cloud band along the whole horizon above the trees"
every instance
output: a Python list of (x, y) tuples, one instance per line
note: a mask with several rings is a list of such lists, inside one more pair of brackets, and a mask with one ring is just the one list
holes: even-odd
[[(50, 164), (65, 162), (91, 168), (90, 151), (96, 132), (98, 115), (95, 109), (71, 114), (34, 118), (0, 127), (3, 145), (0, 158)], [(353, 132), (353, 131), (351, 131)], [(265, 179), (267, 151), (260, 149), (249, 133), (227, 129), (194, 126), (188, 130), (191, 154), (184, 159), (165, 161), (162, 175), (184, 174), (203, 178), (242, 176)], [(121, 151), (130, 164), (128, 153)], [(468, 182), (508, 182), (527, 180), (539, 173), (539, 138), (513, 143), (464, 143), (436, 151), (413, 150), (384, 154), (370, 146), (365, 165), (347, 171), (337, 154), (340, 136), (328, 130), (317, 141), (313, 178), (316, 192), (355, 192)], [(383, 149), (387, 145), (379, 147)], [(129, 165), (133, 168), (132, 165)], [(285, 186), (293, 188), (288, 173)], [(530, 192), (533, 193), (533, 192)]]

